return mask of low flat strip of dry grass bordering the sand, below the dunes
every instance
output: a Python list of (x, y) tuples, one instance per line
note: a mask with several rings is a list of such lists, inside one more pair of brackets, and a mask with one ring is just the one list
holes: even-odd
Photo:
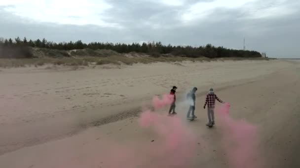
[(95, 56), (83, 56), (83, 57), (62, 57), (62, 58), (24, 58), (24, 59), (0, 59), (0, 67), (25, 67), (25, 66), (42, 66), (45, 64), (54, 65), (66, 65), (66, 66), (88, 66), (90, 63), (94, 62), (97, 65), (104, 64), (115, 64), (115, 65), (133, 65), (135, 63), (153, 63), (153, 62), (181, 62), (181, 61), (216, 61), (216, 60), (269, 60), (268, 58), (241, 58), (241, 57), (227, 57), (227, 58), (189, 58), (181, 56), (108, 56), (108, 57), (95, 57)]

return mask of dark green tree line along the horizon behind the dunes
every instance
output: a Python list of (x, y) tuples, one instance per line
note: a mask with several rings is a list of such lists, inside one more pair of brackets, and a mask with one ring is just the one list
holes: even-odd
[[(161, 42), (149, 42), (149, 43), (109, 43), (109, 42), (91, 42), (83, 43), (81, 40), (75, 42), (52, 42), (47, 41), (45, 38), (37, 40), (28, 40), (26, 37), (20, 39), (19, 37), (12, 40), (9, 39), (0, 39), (1, 48), (10, 47), (11, 49), (16, 49), (22, 47), (22, 50), (25, 50), (26, 47), (38, 47), (38, 48), (47, 48), (54, 50), (75, 50), (75, 49), (107, 49), (113, 50), (118, 53), (146, 53), (152, 56), (160, 56), (161, 54), (172, 54), (174, 56), (188, 56), (188, 57), (200, 57), (205, 56), (209, 58), (216, 57), (261, 57), (262, 55), (257, 51), (244, 51), (244, 50), (234, 50), (227, 49), (224, 47), (215, 47), (211, 44), (206, 46), (192, 47), (192, 46), (172, 46), (172, 45), (163, 45)], [(28, 48), (27, 48), (28, 49)], [(29, 53), (27, 53), (30, 55)]]

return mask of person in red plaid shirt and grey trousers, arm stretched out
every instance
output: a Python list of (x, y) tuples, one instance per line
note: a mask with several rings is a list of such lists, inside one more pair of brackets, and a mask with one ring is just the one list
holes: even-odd
[(207, 105), (207, 115), (208, 115), (208, 123), (207, 126), (213, 126), (215, 125), (215, 103), (216, 99), (220, 103), (224, 103), (221, 99), (218, 98), (218, 96), (214, 93), (214, 89), (210, 88), (208, 94), (206, 95), (206, 100), (204, 104), (204, 109)]

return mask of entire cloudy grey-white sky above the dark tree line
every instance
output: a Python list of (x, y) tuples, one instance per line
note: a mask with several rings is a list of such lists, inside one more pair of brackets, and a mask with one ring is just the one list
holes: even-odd
[(300, 57), (300, 0), (0, 0), (0, 37), (206, 45)]

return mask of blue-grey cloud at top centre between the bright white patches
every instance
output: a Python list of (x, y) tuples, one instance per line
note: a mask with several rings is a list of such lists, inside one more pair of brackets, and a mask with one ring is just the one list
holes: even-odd
[(151, 24), (169, 25), (177, 21), (180, 7), (164, 5), (151, 1), (109, 0), (112, 9), (106, 11), (106, 22), (118, 22), (124, 27), (139, 28), (150, 27)]

